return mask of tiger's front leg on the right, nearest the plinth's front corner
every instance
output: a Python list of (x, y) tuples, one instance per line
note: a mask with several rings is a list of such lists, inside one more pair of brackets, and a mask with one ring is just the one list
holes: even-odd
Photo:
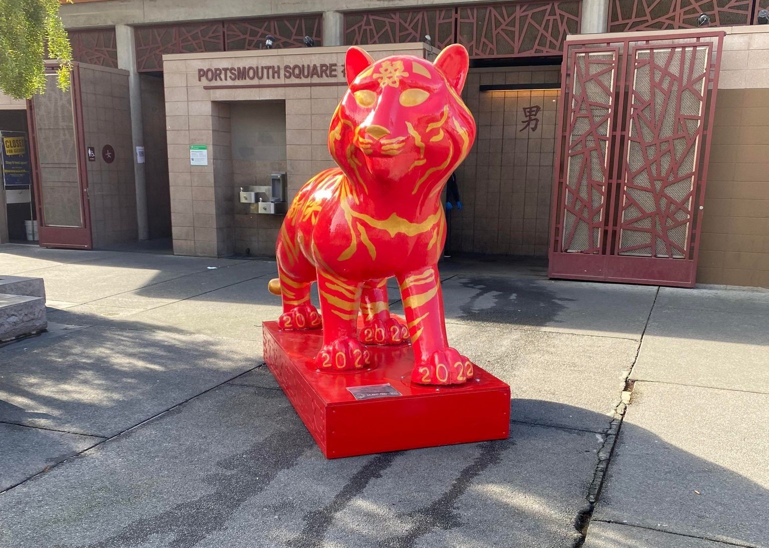
[(448, 346), (438, 267), (398, 276), (403, 308), (414, 347), (411, 382), (462, 384), (473, 376), (473, 363)]

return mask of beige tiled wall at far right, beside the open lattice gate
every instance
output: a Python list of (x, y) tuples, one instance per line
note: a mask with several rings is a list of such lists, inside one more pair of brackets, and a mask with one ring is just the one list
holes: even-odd
[(728, 30), (697, 282), (769, 287), (769, 29)]

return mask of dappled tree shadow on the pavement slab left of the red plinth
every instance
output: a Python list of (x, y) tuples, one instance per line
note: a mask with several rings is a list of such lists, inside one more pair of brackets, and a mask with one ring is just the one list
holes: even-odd
[(260, 363), (241, 341), (89, 327), (0, 350), (0, 421), (101, 437)]

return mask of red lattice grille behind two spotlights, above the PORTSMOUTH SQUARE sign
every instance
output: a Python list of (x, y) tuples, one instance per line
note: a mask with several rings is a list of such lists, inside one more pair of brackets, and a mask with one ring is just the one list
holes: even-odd
[(275, 38), (275, 48), (301, 48), (305, 36), (321, 45), (323, 17), (320, 14), (281, 19), (246, 19), (225, 22), (225, 49), (227, 51), (258, 49), (268, 35)]

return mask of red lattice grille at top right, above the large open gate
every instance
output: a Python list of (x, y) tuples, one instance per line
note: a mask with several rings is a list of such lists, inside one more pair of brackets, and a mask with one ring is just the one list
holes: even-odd
[(611, 0), (608, 32), (697, 28), (704, 13), (711, 26), (749, 25), (756, 0)]

